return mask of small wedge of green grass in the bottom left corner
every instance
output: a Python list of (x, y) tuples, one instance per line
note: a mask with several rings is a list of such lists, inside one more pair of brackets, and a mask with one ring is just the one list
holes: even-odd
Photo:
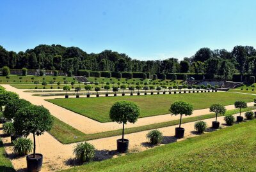
[(6, 157), (3, 142), (0, 138), (0, 171), (1, 172), (11, 172), (15, 171), (12, 166), (12, 162), (8, 157)]

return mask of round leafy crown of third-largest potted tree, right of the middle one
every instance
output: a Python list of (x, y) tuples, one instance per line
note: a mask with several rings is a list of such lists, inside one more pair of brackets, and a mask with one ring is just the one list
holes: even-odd
[(184, 101), (175, 101), (175, 103), (171, 105), (169, 111), (172, 113), (172, 115), (192, 115), (193, 106)]

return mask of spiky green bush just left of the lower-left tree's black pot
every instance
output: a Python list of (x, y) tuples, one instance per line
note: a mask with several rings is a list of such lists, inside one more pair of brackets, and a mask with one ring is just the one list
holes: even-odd
[(27, 155), (32, 151), (33, 142), (29, 138), (17, 138), (13, 141), (13, 151), (18, 155)]

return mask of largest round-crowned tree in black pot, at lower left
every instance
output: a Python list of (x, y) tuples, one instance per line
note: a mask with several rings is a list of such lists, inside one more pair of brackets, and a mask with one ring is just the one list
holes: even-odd
[(36, 154), (36, 138), (49, 131), (53, 124), (53, 118), (49, 110), (44, 106), (27, 106), (17, 111), (14, 120), (14, 128), (17, 133), (28, 137), (33, 134), (33, 154), (27, 155), (27, 168), (28, 171), (40, 171), (42, 168), (43, 155)]

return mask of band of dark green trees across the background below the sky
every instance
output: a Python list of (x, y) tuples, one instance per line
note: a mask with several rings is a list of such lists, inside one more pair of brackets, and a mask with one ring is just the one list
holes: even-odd
[(13, 52), (0, 46), (0, 68), (28, 68), (73, 71), (133, 71), (143, 73), (208, 73), (215, 78), (230, 78), (234, 73), (256, 74), (256, 50), (251, 46), (225, 49), (200, 48), (195, 55), (156, 61), (139, 61), (126, 54), (104, 50), (87, 54), (77, 47), (38, 45), (25, 52)]

